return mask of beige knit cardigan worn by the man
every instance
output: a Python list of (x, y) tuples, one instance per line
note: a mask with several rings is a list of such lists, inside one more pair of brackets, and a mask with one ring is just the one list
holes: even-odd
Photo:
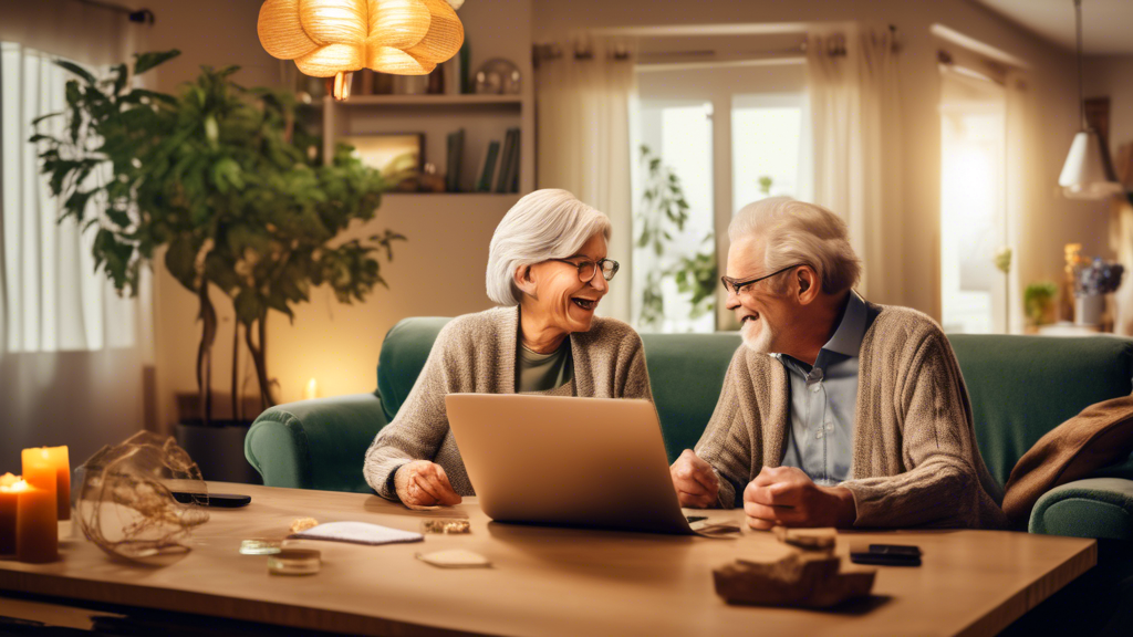
[[(1005, 528), (1003, 492), (976, 445), (960, 365), (920, 312), (870, 305), (861, 343), (851, 478), (855, 527)], [(697, 455), (719, 474), (719, 503), (742, 504), (763, 467), (777, 467), (791, 413), (783, 365), (740, 346)]]

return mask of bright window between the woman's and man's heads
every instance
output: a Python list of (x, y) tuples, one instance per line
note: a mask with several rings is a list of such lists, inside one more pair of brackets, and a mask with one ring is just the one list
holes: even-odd
[[(810, 196), (808, 109), (801, 59), (752, 65), (638, 67), (640, 104), (633, 117), (634, 239), (664, 223), (658, 250), (634, 244), (632, 313), (640, 331), (738, 329), (719, 289), (727, 226), (742, 206), (774, 195)], [(662, 167), (687, 204), (683, 229), (658, 210)], [(662, 188), (664, 190), (664, 188)], [(651, 216), (649, 216), (651, 214)], [(695, 303), (697, 301), (697, 303)]]

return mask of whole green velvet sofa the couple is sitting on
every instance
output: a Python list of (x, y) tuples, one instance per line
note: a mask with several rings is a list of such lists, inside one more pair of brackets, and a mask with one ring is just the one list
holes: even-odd
[[(245, 455), (270, 486), (370, 492), (363, 456), (398, 413), (448, 318), (409, 318), (385, 338), (377, 391), (273, 407), (248, 432)], [(712, 416), (736, 333), (644, 334), (670, 460)], [(1088, 405), (1133, 391), (1133, 341), (1118, 338), (949, 337), (971, 396), (991, 475), (1006, 483), (1019, 458)], [(1133, 540), (1133, 461), (1045, 494), (1030, 530)]]

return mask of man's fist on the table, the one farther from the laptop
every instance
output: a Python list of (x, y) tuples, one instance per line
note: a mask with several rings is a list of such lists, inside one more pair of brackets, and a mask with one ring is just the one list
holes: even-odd
[(818, 486), (795, 467), (764, 467), (743, 490), (748, 526), (834, 526), (846, 528), (858, 519), (853, 494), (844, 486)]

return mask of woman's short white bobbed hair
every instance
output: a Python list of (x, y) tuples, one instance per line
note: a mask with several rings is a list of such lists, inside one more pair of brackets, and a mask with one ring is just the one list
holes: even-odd
[(599, 232), (610, 240), (610, 218), (566, 190), (544, 188), (526, 195), (492, 235), (488, 298), (506, 307), (519, 305), (522, 292), (516, 286), (516, 270), (573, 256)]

